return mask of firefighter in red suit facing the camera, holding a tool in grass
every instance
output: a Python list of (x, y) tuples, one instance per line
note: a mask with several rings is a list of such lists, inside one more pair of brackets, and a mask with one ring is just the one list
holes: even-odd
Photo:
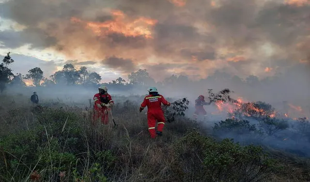
[(94, 101), (94, 115), (93, 121), (99, 119), (101, 117), (101, 122), (104, 124), (108, 124), (109, 122), (109, 109), (113, 106), (114, 102), (112, 100), (111, 95), (108, 93), (108, 88), (105, 86), (101, 86), (98, 88), (99, 93), (96, 93), (93, 96)]

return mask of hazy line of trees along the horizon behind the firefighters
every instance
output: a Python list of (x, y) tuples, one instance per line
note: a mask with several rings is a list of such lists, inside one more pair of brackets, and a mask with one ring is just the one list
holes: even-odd
[[(65, 64), (62, 70), (55, 72), (49, 78), (44, 77), (44, 71), (39, 67), (32, 68), (28, 71), (25, 76), (17, 73), (14, 75), (10, 64), (14, 63), (11, 58), (10, 52), (4, 57), (0, 64), (0, 91), (2, 92), (6, 86), (26, 86), (23, 79), (31, 80), (35, 87), (49, 87), (57, 85), (81, 85), (87, 87), (97, 87), (101, 85), (102, 77), (96, 72), (89, 72), (87, 67), (82, 66), (76, 69), (73, 64)], [(293, 70), (294, 72), (294, 70)], [(282, 78), (280, 78), (282, 77)], [(246, 79), (242, 79), (239, 76), (232, 76), (225, 72), (216, 71), (213, 75), (207, 78), (192, 81), (184, 75), (171, 75), (165, 78), (163, 81), (155, 82), (155, 80), (149, 75), (147, 70), (139, 69), (136, 72), (132, 72), (128, 75), (127, 81), (118, 77), (109, 83), (103, 83), (108, 85), (110, 88), (121, 88), (127, 87), (126, 89), (133, 88), (133, 86), (157, 86), (165, 87), (175, 91), (176, 88), (183, 88), (184, 90), (191, 90), (190, 88), (202, 87), (203, 85), (216, 85), (220, 83), (229, 88), (236, 86), (236, 89), (240, 89), (244, 86), (254, 88), (262, 85), (272, 85), (273, 83), (279, 82), (280, 80), (285, 81), (285, 76), (269, 76), (262, 80), (259, 80), (257, 76), (250, 75)]]

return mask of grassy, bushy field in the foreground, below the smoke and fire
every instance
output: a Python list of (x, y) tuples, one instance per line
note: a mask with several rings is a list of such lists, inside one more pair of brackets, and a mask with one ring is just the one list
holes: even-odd
[(146, 115), (139, 112), (142, 98), (115, 97), (114, 129), (111, 122), (92, 124), (88, 101), (32, 106), (23, 95), (1, 95), (0, 181), (310, 181), (307, 158), (219, 139), (212, 128), (186, 117), (151, 139)]

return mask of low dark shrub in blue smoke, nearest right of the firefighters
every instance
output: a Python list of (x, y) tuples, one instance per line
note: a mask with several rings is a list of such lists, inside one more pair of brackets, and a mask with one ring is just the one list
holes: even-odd
[(255, 124), (249, 124), (247, 120), (226, 119), (215, 123), (213, 130), (217, 132), (233, 132), (236, 134), (248, 134), (256, 131)]

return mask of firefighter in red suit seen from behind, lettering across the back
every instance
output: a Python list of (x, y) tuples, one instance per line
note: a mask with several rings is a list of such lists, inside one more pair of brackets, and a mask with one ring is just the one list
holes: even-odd
[[(149, 126), (149, 133), (152, 138), (155, 138), (156, 135), (162, 136), (162, 131), (166, 122), (161, 104), (170, 106), (170, 103), (164, 98), (164, 96), (158, 94), (155, 87), (150, 87), (148, 91), (149, 95), (144, 97), (144, 100), (140, 106), (140, 112), (147, 106), (147, 123)], [(157, 131), (155, 132), (156, 120)]]

